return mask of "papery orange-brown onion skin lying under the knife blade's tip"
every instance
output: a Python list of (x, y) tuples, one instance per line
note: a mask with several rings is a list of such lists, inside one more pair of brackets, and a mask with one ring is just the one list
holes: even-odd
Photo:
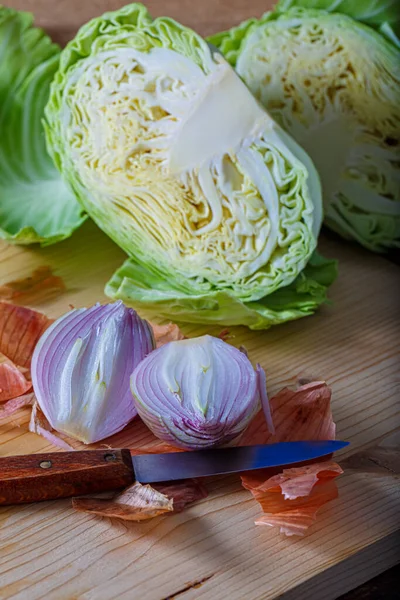
[[(335, 439), (330, 400), (331, 390), (323, 381), (307, 382), (296, 390), (284, 388), (270, 401), (275, 434), (257, 415), (241, 443)], [(279, 526), (286, 535), (304, 535), (318, 510), (337, 498), (334, 479), (342, 473), (335, 462), (321, 460), (281, 472), (262, 469), (243, 473), (241, 479), (265, 513), (256, 525)]]

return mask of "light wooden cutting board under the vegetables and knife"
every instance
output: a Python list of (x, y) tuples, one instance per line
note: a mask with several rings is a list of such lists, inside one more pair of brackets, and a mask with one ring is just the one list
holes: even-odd
[[(123, 2), (8, 0), (28, 9), (58, 41)], [(260, 15), (259, 0), (148, 2), (200, 33)], [(339, 461), (339, 499), (322, 509), (305, 538), (254, 526), (258, 504), (237, 477), (215, 478), (210, 495), (183, 513), (124, 523), (72, 511), (69, 500), (0, 508), (0, 598), (16, 600), (330, 600), (398, 560), (400, 270), (384, 258), (332, 238), (321, 250), (340, 260), (332, 306), (265, 332), (232, 330), (265, 367), (274, 393), (299, 374), (333, 388), (338, 437), (350, 440)], [(104, 301), (103, 286), (124, 255), (93, 223), (49, 248), (0, 243), (0, 285), (50, 266), (66, 284), (33, 308), (59, 316), (69, 305)], [(145, 315), (144, 315), (145, 316)], [(184, 326), (187, 335), (217, 329)], [(0, 423), (0, 455), (47, 451), (27, 432), (29, 411)], [(397, 449), (396, 449), (397, 448)]]

